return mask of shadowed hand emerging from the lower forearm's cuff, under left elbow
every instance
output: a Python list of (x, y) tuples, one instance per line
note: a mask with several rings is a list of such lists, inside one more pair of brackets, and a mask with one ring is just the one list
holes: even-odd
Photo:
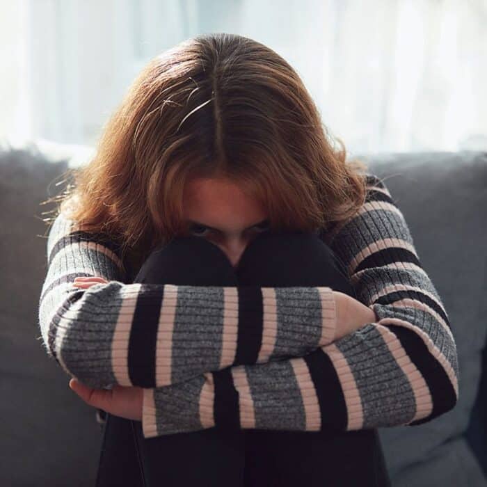
[(93, 389), (74, 378), (70, 388), (89, 406), (127, 420), (142, 421), (143, 388), (115, 384), (113, 389)]

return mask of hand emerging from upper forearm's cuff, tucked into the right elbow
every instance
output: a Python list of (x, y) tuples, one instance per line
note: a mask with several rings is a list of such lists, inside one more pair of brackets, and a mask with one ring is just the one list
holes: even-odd
[(376, 323), (378, 317), (373, 308), (366, 306), (356, 298), (340, 291), (335, 293), (337, 309), (337, 330), (333, 341), (349, 335), (368, 323)]

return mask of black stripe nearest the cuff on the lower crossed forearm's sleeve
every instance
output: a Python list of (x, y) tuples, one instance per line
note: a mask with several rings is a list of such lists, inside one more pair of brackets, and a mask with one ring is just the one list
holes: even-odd
[(225, 431), (237, 431), (240, 426), (239, 393), (234, 386), (231, 367), (211, 372), (215, 387), (215, 426)]

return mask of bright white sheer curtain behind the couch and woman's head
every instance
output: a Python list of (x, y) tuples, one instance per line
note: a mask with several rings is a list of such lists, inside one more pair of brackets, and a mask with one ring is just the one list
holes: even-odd
[(93, 147), (141, 67), (198, 33), (283, 56), (354, 152), (487, 150), (486, 0), (0, 0), (0, 138)]

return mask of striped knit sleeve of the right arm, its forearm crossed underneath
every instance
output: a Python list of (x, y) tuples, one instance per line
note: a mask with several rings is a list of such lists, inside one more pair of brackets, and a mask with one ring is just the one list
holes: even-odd
[(385, 184), (330, 242), (374, 323), (301, 357), (238, 365), (144, 390), (145, 438), (211, 426), (349, 431), (414, 426), (454, 408), (458, 357), (447, 312)]

